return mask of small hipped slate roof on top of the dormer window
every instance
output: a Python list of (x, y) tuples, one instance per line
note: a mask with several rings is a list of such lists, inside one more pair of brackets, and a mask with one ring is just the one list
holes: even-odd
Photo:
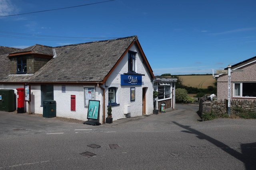
[(15, 54), (15, 53), (24, 53), (24, 52), (32, 52), (32, 53), (37, 53), (37, 54), (46, 54), (46, 55), (52, 55), (53, 56), (53, 52), (52, 52), (52, 48), (50, 46), (45, 46), (45, 45), (33, 45), (31, 47), (27, 47), (24, 49), (19, 49), (16, 51), (11, 52), (10, 54)]

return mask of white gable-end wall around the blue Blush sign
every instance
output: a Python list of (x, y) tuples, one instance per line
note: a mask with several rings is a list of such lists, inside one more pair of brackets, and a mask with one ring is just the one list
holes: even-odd
[[(137, 52), (135, 61), (136, 73), (145, 74), (142, 76), (142, 85), (132, 85), (132, 86), (121, 86), (120, 75), (128, 72), (128, 53), (125, 54), (123, 59), (120, 61), (118, 66), (114, 69), (112, 74), (108, 78), (108, 86), (105, 87), (105, 103), (108, 105), (108, 88), (116, 87), (116, 103), (120, 104), (117, 106), (112, 106), (112, 118), (117, 120), (124, 118), (124, 105), (131, 105), (131, 117), (142, 115), (142, 88), (146, 89), (146, 114), (150, 115), (153, 113), (153, 82), (151, 81), (150, 72), (148, 71), (146, 64), (143, 64), (143, 58), (139, 53), (136, 45), (133, 45), (130, 51)], [(135, 87), (135, 101), (130, 101), (130, 88)], [(107, 107), (106, 107), (107, 116)]]

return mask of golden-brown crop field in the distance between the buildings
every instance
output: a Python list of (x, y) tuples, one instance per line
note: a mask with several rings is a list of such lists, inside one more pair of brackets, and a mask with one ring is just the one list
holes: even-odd
[(182, 80), (182, 84), (185, 86), (191, 86), (196, 88), (207, 88), (208, 86), (214, 86), (216, 81), (212, 78), (212, 75), (195, 75), (195, 76), (179, 76)]

